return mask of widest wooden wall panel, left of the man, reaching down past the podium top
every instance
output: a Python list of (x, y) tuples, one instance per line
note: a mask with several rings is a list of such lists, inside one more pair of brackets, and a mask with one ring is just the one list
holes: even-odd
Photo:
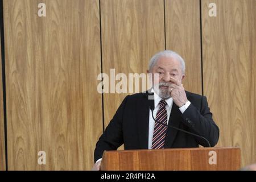
[(4, 1), (9, 169), (92, 168), (102, 133), (99, 12), (98, 0)]

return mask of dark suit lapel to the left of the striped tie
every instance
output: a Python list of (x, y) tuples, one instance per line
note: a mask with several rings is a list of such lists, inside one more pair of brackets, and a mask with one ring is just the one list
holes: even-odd
[(149, 110), (150, 100), (147, 98), (147, 94), (143, 94), (141, 100), (137, 104), (137, 129), (139, 135), (139, 143), (142, 149), (148, 148), (148, 121), (149, 121)]

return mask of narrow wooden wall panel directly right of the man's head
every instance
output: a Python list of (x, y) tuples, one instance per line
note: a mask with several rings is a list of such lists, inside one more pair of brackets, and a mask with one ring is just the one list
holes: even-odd
[(183, 57), (184, 88), (198, 94), (202, 94), (200, 45), (200, 2), (166, 0), (166, 48)]

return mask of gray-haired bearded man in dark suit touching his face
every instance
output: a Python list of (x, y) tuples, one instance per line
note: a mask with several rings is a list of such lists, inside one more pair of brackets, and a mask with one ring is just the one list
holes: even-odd
[[(199, 147), (199, 144), (213, 147), (217, 144), (219, 129), (212, 119), (207, 98), (185, 91), (181, 84), (185, 76), (182, 57), (173, 51), (156, 53), (147, 72), (152, 73), (152, 89), (125, 97), (96, 144), (93, 169), (100, 169), (105, 150), (117, 150), (122, 144), (125, 150)], [(152, 95), (154, 100), (149, 99)], [(151, 105), (154, 105), (153, 114)], [(201, 137), (161, 125), (152, 115), (158, 122)]]

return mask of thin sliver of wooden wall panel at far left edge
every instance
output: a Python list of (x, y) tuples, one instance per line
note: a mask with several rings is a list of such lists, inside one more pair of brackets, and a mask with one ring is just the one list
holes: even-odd
[(0, 171), (5, 169), (5, 125), (3, 118), (2, 49), (0, 40)]

